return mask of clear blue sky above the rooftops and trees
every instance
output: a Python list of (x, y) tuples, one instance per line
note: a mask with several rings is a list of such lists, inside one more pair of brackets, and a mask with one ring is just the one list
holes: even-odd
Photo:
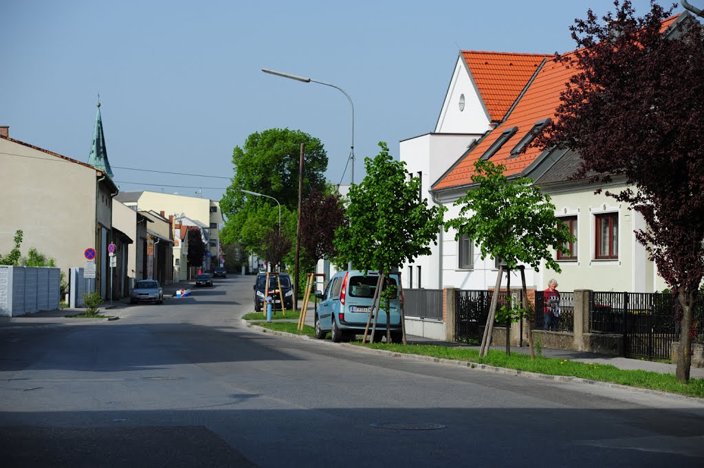
[[(648, 9), (647, 0), (633, 3)], [(568, 28), (589, 7), (602, 14), (612, 1), (5, 1), (0, 125), (87, 161), (99, 93), (122, 191), (193, 195), (186, 186), (196, 186), (219, 200), (226, 179), (117, 167), (232, 177), (232, 148), (272, 127), (320, 138), (327, 177), (340, 182), (348, 101), (260, 71), (271, 68), (348, 92), (359, 182), (379, 141), (398, 158), (398, 141), (434, 129), (460, 49), (568, 51)]]

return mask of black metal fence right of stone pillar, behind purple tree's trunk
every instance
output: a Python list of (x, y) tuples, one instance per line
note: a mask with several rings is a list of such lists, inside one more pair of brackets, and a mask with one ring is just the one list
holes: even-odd
[[(589, 331), (622, 334), (627, 356), (670, 359), (680, 316), (671, 294), (593, 292), (589, 297)], [(694, 311), (693, 334), (694, 341), (704, 341), (702, 301)]]

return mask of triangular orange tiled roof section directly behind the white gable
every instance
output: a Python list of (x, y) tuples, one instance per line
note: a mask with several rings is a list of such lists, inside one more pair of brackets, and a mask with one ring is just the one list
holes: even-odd
[(540, 53), (482, 51), (462, 51), (462, 56), (495, 122), (503, 119), (543, 58), (552, 57)]

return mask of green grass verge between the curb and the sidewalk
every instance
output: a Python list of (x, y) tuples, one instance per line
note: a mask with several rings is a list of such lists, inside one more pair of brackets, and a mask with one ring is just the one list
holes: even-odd
[[(303, 334), (314, 336), (313, 327), (306, 325), (303, 331), (296, 329), (295, 323), (258, 323), (265, 327), (277, 331), (286, 331), (292, 334)], [(383, 349), (394, 353), (415, 354), (431, 356), (433, 358), (460, 360), (466, 362), (476, 362), (506, 369), (516, 369), (524, 372), (536, 372), (538, 374), (563, 375), (567, 377), (579, 377), (582, 379), (610, 382), (612, 384), (628, 385), (651, 390), (665, 391), (669, 393), (679, 393), (680, 395), (695, 396), (704, 398), (704, 379), (690, 379), (689, 385), (679, 384), (673, 374), (660, 374), (658, 372), (648, 372), (643, 370), (623, 370), (612, 365), (598, 365), (587, 362), (570, 361), (556, 358), (536, 358), (531, 360), (529, 355), (512, 353), (507, 356), (503, 351), (489, 350), (486, 358), (479, 358), (479, 351), (461, 346), (434, 346), (415, 344), (386, 344), (386, 343), (366, 343), (352, 341), (356, 346), (366, 346), (367, 348)]]

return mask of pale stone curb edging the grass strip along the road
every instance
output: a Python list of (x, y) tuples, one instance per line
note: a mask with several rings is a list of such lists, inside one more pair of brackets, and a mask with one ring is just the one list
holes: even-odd
[(704, 405), (704, 398), (697, 398), (696, 396), (686, 396), (686, 395), (680, 395), (679, 393), (669, 393), (669, 392), (659, 391), (659, 390), (650, 390), (650, 388), (641, 388), (641, 387), (632, 387), (632, 386), (621, 385), (621, 384), (612, 384), (611, 382), (582, 379), (582, 377), (538, 374), (536, 372), (527, 372), (524, 370), (507, 369), (505, 367), (495, 367), (495, 366), (490, 366), (490, 365), (486, 365), (486, 364), (477, 364), (477, 362), (460, 361), (460, 360), (444, 359), (444, 358), (433, 358), (432, 356), (424, 356), (424, 355), (419, 355), (419, 354), (397, 353), (396, 351), (364, 348), (362, 346), (354, 346), (354, 345), (351, 345), (348, 343), (332, 343), (332, 341), (313, 339), (313, 338), (310, 338), (310, 336), (308, 336), (308, 335), (296, 335), (296, 334), (288, 333), (286, 331), (277, 331), (277, 330), (272, 330), (272, 329), (268, 329), (268, 328), (264, 328), (264, 327), (259, 327), (257, 324), (253, 324), (249, 320), (241, 319), (241, 322), (247, 328), (254, 327), (259, 330), (265, 330), (266, 333), (270, 333), (272, 335), (278, 335), (278, 336), (284, 336), (287, 338), (299, 339), (301, 341), (313, 341), (314, 343), (320, 343), (321, 345), (324, 345), (324, 346), (326, 346), (326, 345), (327, 346), (343, 346), (346, 348), (360, 350), (360, 351), (367, 352), (367, 353), (373, 353), (373, 354), (378, 354), (378, 355), (387, 355), (387, 356), (390, 356), (391, 358), (406, 358), (406, 359), (416, 360), (416, 361), (436, 362), (438, 364), (454, 365), (454, 366), (458, 366), (458, 367), (467, 367), (469, 369), (486, 371), (486, 372), (494, 372), (496, 374), (514, 375), (516, 377), (527, 377), (528, 379), (548, 380), (548, 381), (555, 381), (555, 382), (562, 382), (562, 383), (601, 386), (601, 387), (605, 387), (605, 388), (613, 388), (615, 390), (631, 391), (634, 393), (643, 393), (645, 395), (663, 396), (663, 397), (667, 397), (667, 398), (674, 398), (677, 400), (685, 400), (685, 401), (689, 401), (692, 403), (700, 403), (700, 404)]

